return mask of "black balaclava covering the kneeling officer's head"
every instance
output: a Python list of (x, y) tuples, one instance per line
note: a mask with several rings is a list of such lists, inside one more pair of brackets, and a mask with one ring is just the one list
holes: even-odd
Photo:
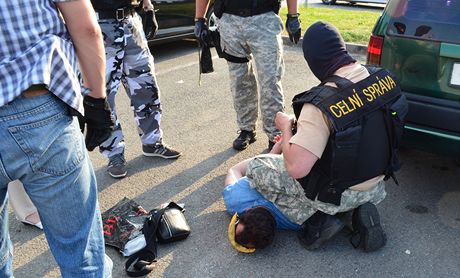
[(317, 21), (303, 35), (303, 56), (313, 74), (322, 82), (342, 66), (356, 62), (334, 25)]

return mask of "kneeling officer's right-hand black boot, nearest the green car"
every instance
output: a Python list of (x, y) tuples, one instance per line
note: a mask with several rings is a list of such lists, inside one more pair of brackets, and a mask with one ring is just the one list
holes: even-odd
[(353, 211), (353, 234), (350, 242), (355, 248), (372, 252), (385, 246), (387, 237), (380, 225), (380, 215), (372, 203), (365, 203)]

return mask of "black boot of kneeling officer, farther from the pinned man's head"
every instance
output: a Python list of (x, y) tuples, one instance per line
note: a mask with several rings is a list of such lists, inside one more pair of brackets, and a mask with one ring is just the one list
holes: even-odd
[(386, 244), (386, 235), (380, 225), (380, 215), (375, 205), (366, 203), (358, 208), (358, 221), (361, 227), (358, 228), (363, 234), (362, 247), (365, 252), (372, 252), (382, 248)]

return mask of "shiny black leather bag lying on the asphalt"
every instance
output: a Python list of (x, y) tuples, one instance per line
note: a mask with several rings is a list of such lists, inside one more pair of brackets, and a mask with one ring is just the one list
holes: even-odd
[[(161, 210), (159, 210), (161, 211)], [(152, 211), (154, 213), (158, 213)], [(174, 202), (164, 208), (163, 215), (157, 229), (157, 238), (160, 243), (168, 243), (185, 239), (190, 234), (190, 226), (184, 215), (184, 209)]]

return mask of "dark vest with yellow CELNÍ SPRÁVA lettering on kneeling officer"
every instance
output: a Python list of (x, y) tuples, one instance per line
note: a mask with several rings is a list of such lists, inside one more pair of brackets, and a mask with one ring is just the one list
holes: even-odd
[[(395, 179), (407, 101), (391, 73), (366, 68), (370, 76), (358, 83), (332, 76), (293, 99), (297, 119), (303, 105), (311, 103), (332, 124), (321, 159), (298, 179), (311, 200), (340, 205), (342, 193), (353, 185), (382, 174)], [(337, 88), (324, 85), (327, 82)]]

